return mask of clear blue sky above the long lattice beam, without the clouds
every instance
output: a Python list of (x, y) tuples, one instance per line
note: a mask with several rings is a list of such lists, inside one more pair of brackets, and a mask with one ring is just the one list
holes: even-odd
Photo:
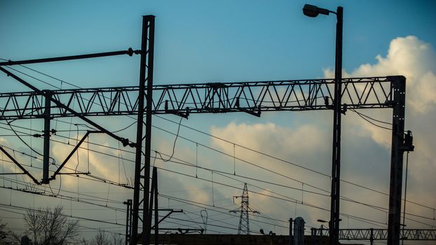
[[(301, 1), (0, 4), (4, 23), (1, 51), (6, 59), (139, 48), (140, 16), (151, 14), (156, 15), (156, 83), (314, 78), (322, 76), (322, 68), (334, 66), (334, 15), (307, 18), (301, 13)], [(376, 55), (385, 55), (389, 42), (397, 36), (413, 34), (429, 43), (436, 41), (430, 26), (435, 21), (433, 1), (314, 4), (331, 10), (344, 7), (343, 67), (348, 71), (374, 62)], [(119, 59), (115, 71), (129, 72), (115, 76), (119, 80), (114, 84), (135, 84), (137, 67), (132, 65), (138, 62), (125, 59)], [(93, 79), (99, 76), (86, 73)]]

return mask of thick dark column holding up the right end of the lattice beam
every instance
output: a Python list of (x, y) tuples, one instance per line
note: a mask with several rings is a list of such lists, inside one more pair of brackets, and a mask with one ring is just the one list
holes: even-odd
[(392, 81), (393, 118), (392, 149), (390, 155), (390, 189), (388, 216), (388, 244), (400, 244), (402, 164), (404, 153), (404, 114), (406, 105), (406, 78), (404, 76), (388, 76)]

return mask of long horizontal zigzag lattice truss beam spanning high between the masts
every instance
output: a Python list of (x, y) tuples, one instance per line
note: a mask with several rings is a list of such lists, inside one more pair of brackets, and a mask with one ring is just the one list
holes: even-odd
[[(343, 109), (392, 108), (392, 78), (344, 78)], [(333, 86), (333, 79), (154, 85), (152, 111), (186, 117), (190, 113), (243, 111), (259, 116), (261, 111), (330, 110)], [(139, 87), (50, 90), (54, 99), (81, 116), (135, 115), (138, 92)], [(1, 93), (0, 120), (41, 118), (44, 102), (39, 92)], [(74, 114), (52, 103), (50, 116)]]

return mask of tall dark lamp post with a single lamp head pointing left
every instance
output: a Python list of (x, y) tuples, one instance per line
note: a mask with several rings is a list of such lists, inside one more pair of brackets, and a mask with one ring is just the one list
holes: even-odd
[(319, 14), (336, 15), (336, 53), (334, 64), (334, 99), (333, 99), (333, 151), (332, 151), (332, 192), (330, 204), (329, 237), (330, 244), (339, 244), (339, 193), (341, 174), (341, 92), (342, 92), (342, 20), (343, 8), (339, 6), (336, 12), (318, 8), (310, 4), (304, 5), (304, 15), (315, 18)]

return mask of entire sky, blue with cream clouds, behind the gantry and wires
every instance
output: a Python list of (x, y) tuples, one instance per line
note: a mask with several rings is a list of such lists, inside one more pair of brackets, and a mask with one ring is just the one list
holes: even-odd
[[(335, 16), (308, 18), (301, 11), (305, 3), (329, 10), (343, 6), (343, 77), (402, 75), (407, 78), (406, 128), (413, 132), (416, 148), (409, 154), (407, 200), (414, 203), (407, 202), (405, 223), (407, 228), (434, 229), (435, 1), (125, 3), (1, 0), (0, 58), (36, 59), (127, 50), (129, 47), (139, 49), (142, 15), (155, 15), (156, 85), (332, 78)], [(71, 84), (79, 87), (132, 86), (139, 80), (139, 56), (28, 67), (59, 79), (24, 67), (13, 67), (39, 89), (66, 89), (71, 88)], [(1, 92), (29, 90), (5, 74), (0, 74), (0, 83)], [(390, 110), (362, 113), (383, 122), (390, 122), (392, 117)], [(111, 131), (135, 123), (134, 118), (125, 116), (93, 120)], [(175, 140), (179, 121), (177, 116), (153, 118), (153, 152), (166, 154), (163, 158), (168, 158), (175, 146), (177, 162), (197, 166), (153, 158), (154, 165), (160, 168), (159, 207), (184, 210), (182, 214), (172, 214), (172, 219), (161, 227), (205, 228), (207, 225), (207, 233), (236, 234), (238, 214), (229, 211), (240, 205), (233, 196), (241, 195), (244, 183), (248, 186), (250, 207), (260, 212), (259, 216), (250, 218), (254, 233), (263, 229), (285, 235), (287, 220), (297, 216), (303, 217), (309, 227), (316, 228), (321, 225), (318, 219), (329, 219), (329, 212), (324, 209), (329, 210), (331, 112), (271, 112), (263, 113), (261, 118), (244, 113), (197, 114), (188, 120), (182, 119), (179, 137)], [(52, 122), (52, 127), (58, 130), (50, 148), (56, 162), (62, 162), (86, 130), (74, 123), (83, 121), (59, 118)], [(11, 124), (18, 126), (15, 130), (22, 131), (23, 135), (42, 130), (38, 119)], [(390, 131), (375, 127), (352, 112), (343, 116), (342, 129), (341, 179), (355, 185), (342, 182), (341, 195), (355, 202), (341, 201), (341, 228), (386, 228), (388, 196), (383, 193), (389, 190)], [(0, 131), (0, 144), (15, 149), (8, 151), (16, 153), (16, 158), (23, 164), (32, 165), (29, 167), (31, 172), (40, 176), (41, 170), (37, 167), (41, 167), (41, 161), (32, 158), (39, 155), (18, 137), (11, 136), (13, 132), (8, 125), (2, 124)], [(134, 139), (134, 125), (120, 134)], [(34, 150), (41, 151), (41, 139), (29, 136), (22, 139)], [(92, 135), (89, 142), (90, 151), (88, 148), (79, 151), (66, 165), (69, 171), (89, 170), (93, 176), (131, 185), (132, 148), (123, 148), (101, 134)], [(13, 165), (5, 161), (5, 156), (1, 157), (2, 171), (14, 172)], [(55, 170), (52, 167), (51, 170)], [(231, 174), (222, 176), (218, 171)], [(4, 175), (1, 178), (0, 219), (15, 232), (24, 231), (20, 218), (25, 209), (55, 205), (62, 205), (69, 216), (79, 217), (86, 239), (91, 239), (98, 229), (124, 232), (123, 202), (132, 198), (131, 189), (109, 185), (90, 176), (64, 175), (52, 181), (50, 186), (32, 186), (24, 176)], [(57, 197), (15, 190), (23, 188), (39, 188), (41, 192)], [(200, 214), (203, 209), (207, 210), (207, 222)], [(114, 224), (86, 221), (80, 217)], [(306, 228), (306, 232), (309, 231)]]

